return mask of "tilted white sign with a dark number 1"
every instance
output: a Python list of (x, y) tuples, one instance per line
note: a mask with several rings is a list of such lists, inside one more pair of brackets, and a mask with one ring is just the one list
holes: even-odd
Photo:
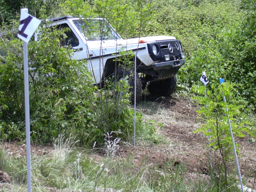
[(28, 43), (40, 23), (41, 21), (39, 19), (36, 19), (29, 15), (28, 12), (21, 9), (19, 33), (17, 36)]

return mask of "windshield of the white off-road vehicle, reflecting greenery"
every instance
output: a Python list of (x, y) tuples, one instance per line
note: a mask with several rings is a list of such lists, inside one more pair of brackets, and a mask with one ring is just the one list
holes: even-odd
[(73, 20), (73, 23), (87, 41), (121, 39), (106, 20)]

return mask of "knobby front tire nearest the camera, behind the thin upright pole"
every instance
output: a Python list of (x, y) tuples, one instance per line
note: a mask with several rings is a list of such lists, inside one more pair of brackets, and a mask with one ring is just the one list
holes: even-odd
[[(131, 86), (131, 88), (128, 90), (132, 93), (131, 95), (131, 101), (134, 103), (134, 70), (133, 69), (126, 69), (126, 68), (117, 68), (116, 71), (113, 73), (113, 80), (112, 82), (119, 82), (121, 79), (126, 79), (128, 76), (128, 83)], [(142, 94), (142, 83), (140, 76), (138, 73), (136, 73), (136, 102), (140, 101)]]

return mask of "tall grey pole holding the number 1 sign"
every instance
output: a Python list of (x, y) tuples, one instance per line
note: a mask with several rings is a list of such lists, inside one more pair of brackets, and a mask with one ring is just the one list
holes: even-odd
[[(22, 10), (28, 13), (27, 8), (23, 8)], [(30, 119), (29, 119), (29, 91), (28, 91), (28, 43), (25, 41), (23, 41), (23, 57), (24, 57), (24, 88), (25, 88), (25, 119), (26, 119), (28, 192), (31, 192)]]

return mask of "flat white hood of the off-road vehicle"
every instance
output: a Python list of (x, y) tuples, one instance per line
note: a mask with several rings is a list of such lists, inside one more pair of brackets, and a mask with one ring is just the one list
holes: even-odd
[[(107, 47), (116, 47), (116, 46), (127, 46), (138, 44), (140, 40), (144, 40), (147, 43), (153, 41), (163, 41), (163, 40), (173, 40), (176, 39), (173, 36), (149, 36), (149, 37), (140, 37), (134, 39), (117, 39), (117, 40), (102, 40), (102, 41), (87, 41), (87, 45), (91, 49), (107, 48)], [(145, 43), (145, 44), (147, 44)]]

